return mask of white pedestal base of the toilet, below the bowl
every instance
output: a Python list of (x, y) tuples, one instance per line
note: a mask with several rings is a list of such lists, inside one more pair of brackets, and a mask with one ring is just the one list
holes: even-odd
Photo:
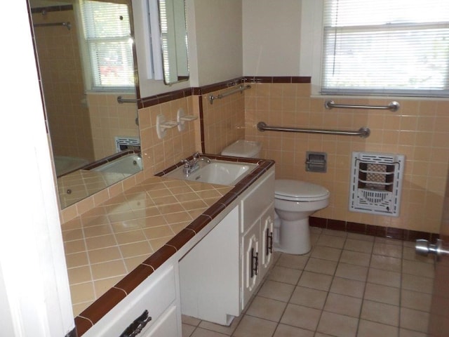
[(275, 251), (302, 255), (311, 250), (309, 217), (302, 220), (286, 221), (281, 219), (279, 228), (279, 243)]

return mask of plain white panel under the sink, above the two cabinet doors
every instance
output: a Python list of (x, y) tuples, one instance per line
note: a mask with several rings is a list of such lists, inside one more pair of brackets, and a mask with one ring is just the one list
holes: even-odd
[(274, 169), (271, 169), (241, 201), (241, 232), (246, 232), (273, 202)]

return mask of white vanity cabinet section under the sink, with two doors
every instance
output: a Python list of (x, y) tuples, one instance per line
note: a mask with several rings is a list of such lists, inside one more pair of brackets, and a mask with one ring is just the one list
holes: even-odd
[(272, 263), (273, 217), (274, 168), (179, 261), (182, 314), (222, 325), (241, 314)]

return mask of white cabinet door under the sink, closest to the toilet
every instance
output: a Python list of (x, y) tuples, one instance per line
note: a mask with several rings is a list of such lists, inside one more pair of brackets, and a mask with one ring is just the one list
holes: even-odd
[(274, 204), (260, 218), (260, 278), (267, 273), (273, 260)]

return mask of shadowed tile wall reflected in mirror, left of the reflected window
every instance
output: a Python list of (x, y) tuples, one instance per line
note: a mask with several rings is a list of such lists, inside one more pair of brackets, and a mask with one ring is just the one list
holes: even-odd
[[(34, 23), (75, 22), (73, 11), (33, 14)], [(46, 116), (55, 155), (93, 160), (89, 112), (83, 104), (84, 85), (76, 25), (35, 27)], [(71, 104), (67, 104), (71, 103)]]

